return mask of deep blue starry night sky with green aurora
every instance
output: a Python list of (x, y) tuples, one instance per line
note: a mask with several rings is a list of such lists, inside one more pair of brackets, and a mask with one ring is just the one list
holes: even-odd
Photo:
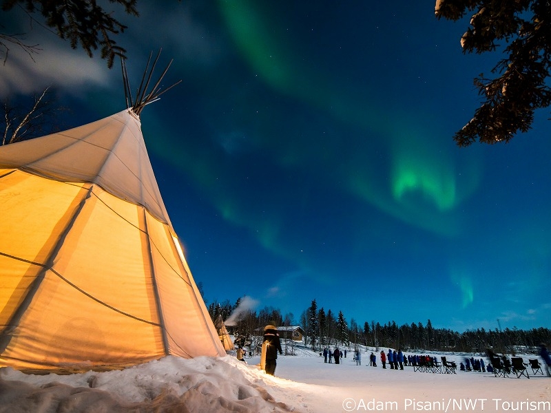
[[(134, 88), (160, 47), (163, 84), (182, 80), (141, 119), (207, 305), (550, 327), (549, 113), (509, 144), (455, 145), (472, 79), (501, 57), (461, 52), (470, 17), (439, 21), (434, 1), (138, 3), (138, 18), (110, 6), (129, 25), (116, 41)], [(118, 63), (37, 25), (28, 39), (43, 50), (12, 46), (1, 96), (53, 85), (67, 128), (125, 109)]]

